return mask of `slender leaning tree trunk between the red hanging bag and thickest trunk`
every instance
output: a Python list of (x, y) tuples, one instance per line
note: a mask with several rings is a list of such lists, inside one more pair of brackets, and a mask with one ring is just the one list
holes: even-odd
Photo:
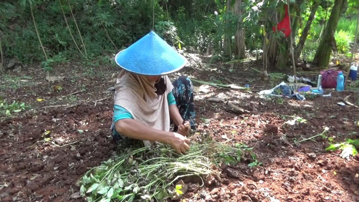
[(312, 5), (311, 14), (309, 15), (309, 18), (308, 18), (308, 21), (306, 23), (306, 26), (304, 27), (302, 35), (299, 38), (299, 42), (298, 42), (298, 44), (297, 44), (297, 46), (295, 47), (295, 50), (294, 50), (294, 59), (296, 61), (299, 60), (300, 54), (302, 53), (304, 43), (307, 40), (307, 36), (308, 36), (309, 30), (311, 29), (311, 25), (312, 25), (313, 19), (315, 17), (315, 13), (317, 12), (318, 6), (319, 6), (319, 3), (314, 1), (313, 5)]

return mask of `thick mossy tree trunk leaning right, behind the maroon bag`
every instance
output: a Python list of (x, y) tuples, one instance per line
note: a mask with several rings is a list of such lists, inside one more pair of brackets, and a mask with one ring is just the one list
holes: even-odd
[(333, 44), (335, 43), (334, 32), (340, 18), (341, 10), (346, 4), (346, 1), (347, 0), (336, 0), (334, 3), (327, 27), (324, 30), (322, 40), (320, 41), (313, 60), (313, 62), (320, 67), (327, 67), (329, 65), (330, 54)]

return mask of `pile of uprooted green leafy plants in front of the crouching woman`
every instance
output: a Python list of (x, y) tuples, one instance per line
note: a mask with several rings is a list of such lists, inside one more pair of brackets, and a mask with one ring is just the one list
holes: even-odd
[(165, 201), (178, 194), (182, 186), (174, 188), (174, 183), (181, 178), (219, 175), (213, 163), (236, 164), (245, 151), (239, 144), (230, 147), (213, 141), (192, 143), (183, 155), (164, 144), (148, 149), (127, 148), (115, 159), (89, 170), (76, 183), (81, 196), (87, 196), (88, 201)]

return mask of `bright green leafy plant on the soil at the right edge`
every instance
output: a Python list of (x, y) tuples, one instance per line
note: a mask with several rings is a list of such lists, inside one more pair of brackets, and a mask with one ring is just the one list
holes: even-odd
[(330, 144), (329, 147), (325, 148), (326, 151), (341, 150), (340, 156), (342, 158), (348, 158), (350, 155), (355, 156), (358, 154), (356, 147), (359, 147), (359, 139), (347, 139), (345, 142)]

